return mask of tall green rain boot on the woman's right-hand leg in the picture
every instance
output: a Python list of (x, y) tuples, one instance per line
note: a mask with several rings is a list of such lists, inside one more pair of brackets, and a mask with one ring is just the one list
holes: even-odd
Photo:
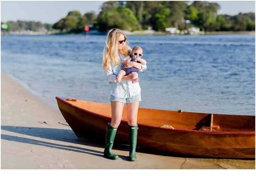
[(129, 126), (129, 144), (130, 144), (130, 152), (129, 152), (129, 161), (136, 161), (136, 145), (137, 145), (137, 131), (138, 125)]

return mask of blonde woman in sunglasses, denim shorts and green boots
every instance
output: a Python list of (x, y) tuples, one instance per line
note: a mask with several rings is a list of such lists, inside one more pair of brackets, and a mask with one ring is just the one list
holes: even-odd
[[(122, 119), (123, 106), (127, 106), (127, 121), (129, 127), (129, 161), (136, 161), (137, 144), (137, 113), (139, 108), (140, 85), (139, 82), (131, 83), (132, 73), (123, 76), (120, 83), (116, 82), (116, 76), (122, 69), (121, 61), (131, 54), (130, 46), (125, 42), (126, 36), (119, 29), (111, 29), (108, 32), (104, 54), (102, 57), (102, 66), (104, 74), (109, 81), (110, 102), (111, 102), (111, 123), (107, 124), (106, 145), (104, 156), (111, 159), (118, 159), (118, 155), (112, 151), (113, 141), (116, 136), (117, 127)], [(146, 70), (146, 65), (136, 62), (123, 63), (124, 68), (136, 67), (141, 72)]]

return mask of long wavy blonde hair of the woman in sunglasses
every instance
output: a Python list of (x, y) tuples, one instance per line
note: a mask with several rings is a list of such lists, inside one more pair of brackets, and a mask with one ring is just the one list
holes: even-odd
[[(102, 67), (103, 71), (105, 69), (111, 70), (110, 62), (112, 61), (116, 66), (119, 65), (117, 54), (118, 54), (118, 40), (121, 35), (125, 34), (120, 29), (111, 29), (108, 32), (106, 45), (104, 47), (103, 57), (102, 57)], [(126, 38), (126, 36), (125, 36)], [(120, 50), (120, 54), (125, 57), (131, 54), (131, 47), (125, 42), (123, 49)]]

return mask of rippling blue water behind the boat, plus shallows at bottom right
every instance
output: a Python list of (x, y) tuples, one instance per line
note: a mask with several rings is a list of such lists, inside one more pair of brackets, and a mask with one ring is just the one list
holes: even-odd
[[(143, 48), (140, 107), (255, 115), (255, 35), (127, 36)], [(58, 108), (55, 97), (110, 103), (106, 36), (1, 36), (1, 72)], [(255, 169), (255, 160), (187, 158), (182, 169)]]

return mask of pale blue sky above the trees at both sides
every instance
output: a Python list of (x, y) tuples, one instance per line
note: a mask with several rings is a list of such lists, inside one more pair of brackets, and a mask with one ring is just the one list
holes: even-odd
[[(98, 14), (105, 1), (9, 1), (1, 0), (1, 22), (35, 21), (54, 24), (73, 10), (81, 15), (94, 11)], [(255, 13), (255, 1), (209, 1), (221, 6), (218, 14), (237, 15)]]

